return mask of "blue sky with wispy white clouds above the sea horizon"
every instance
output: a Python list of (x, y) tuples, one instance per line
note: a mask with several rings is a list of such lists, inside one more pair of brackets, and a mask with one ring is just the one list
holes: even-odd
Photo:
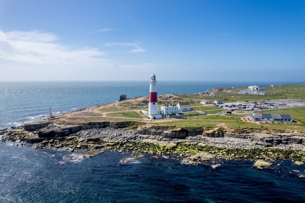
[(305, 81), (305, 1), (0, 0), (0, 81)]

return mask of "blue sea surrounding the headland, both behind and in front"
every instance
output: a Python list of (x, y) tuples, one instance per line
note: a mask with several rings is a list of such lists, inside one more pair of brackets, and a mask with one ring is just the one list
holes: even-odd
[[(198, 94), (213, 87), (305, 84), (258, 81), (158, 81), (157, 93)], [(0, 82), (0, 129), (53, 114), (149, 95), (149, 81)], [(1, 135), (0, 135), (1, 136)], [(258, 170), (253, 160), (185, 164), (149, 154), (83, 151), (0, 142), (0, 202), (305, 202), (305, 167), (274, 161)]]

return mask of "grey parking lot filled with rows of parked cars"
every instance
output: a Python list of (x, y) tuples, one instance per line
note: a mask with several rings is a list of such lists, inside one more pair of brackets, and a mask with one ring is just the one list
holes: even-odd
[(253, 112), (260, 112), (271, 109), (291, 109), (297, 107), (305, 107), (305, 100), (296, 99), (246, 101), (223, 103), (219, 104), (219, 107), (222, 106), (222, 108), (228, 109), (229, 111), (232, 111), (232, 113), (234, 113), (236, 110), (245, 111), (248, 115), (252, 114)]

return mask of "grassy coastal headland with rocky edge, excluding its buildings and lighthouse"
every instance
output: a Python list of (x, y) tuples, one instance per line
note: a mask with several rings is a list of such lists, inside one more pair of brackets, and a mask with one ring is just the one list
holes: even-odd
[[(218, 89), (217, 94), (224, 101), (224, 97), (230, 98), (227, 102), (242, 100), (226, 89)], [(294, 101), (285, 94), (274, 95), (261, 95), (255, 100), (268, 97)], [(198, 94), (161, 95), (159, 105), (188, 101), (193, 111), (184, 112), (183, 117), (152, 120), (141, 112), (148, 107), (148, 97), (138, 96), (59, 114), (9, 131), (0, 129), (0, 141), (33, 143), (33, 148), (41, 149), (66, 148), (88, 157), (113, 150), (129, 152), (135, 159), (143, 155), (152, 160), (166, 156), (190, 164), (213, 159), (250, 159), (259, 160), (255, 166), (258, 169), (274, 160), (292, 160), (297, 165), (305, 161), (305, 125), (301, 117), (295, 117), (292, 123), (255, 122), (249, 119), (249, 111), (228, 115), (227, 109), (200, 104), (201, 99), (213, 100)], [(296, 109), (303, 115), (304, 108), (281, 111), (293, 117)], [(207, 115), (198, 116), (203, 113)]]

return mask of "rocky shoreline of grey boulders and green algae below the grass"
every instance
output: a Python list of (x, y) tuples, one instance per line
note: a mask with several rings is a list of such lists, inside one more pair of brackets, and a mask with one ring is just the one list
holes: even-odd
[(166, 155), (189, 164), (211, 159), (250, 159), (259, 161), (260, 164), (255, 165), (258, 169), (271, 166), (267, 163), (273, 160), (292, 160), (297, 165), (305, 160), (305, 136), (297, 132), (242, 134), (221, 130), (140, 128), (135, 124), (56, 125), (38, 121), (9, 132), (0, 129), (0, 141), (11, 141), (17, 145), (34, 143), (33, 148), (40, 149), (49, 146), (70, 151), (85, 150), (87, 153), (84, 156), (87, 157), (112, 150), (129, 152), (135, 159), (142, 157), (141, 153), (148, 154), (152, 160)]

